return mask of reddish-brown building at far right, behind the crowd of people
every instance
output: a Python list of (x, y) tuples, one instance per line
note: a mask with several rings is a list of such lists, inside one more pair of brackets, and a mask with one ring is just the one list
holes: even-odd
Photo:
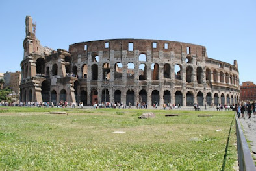
[(256, 100), (256, 85), (253, 82), (243, 82), (240, 86), (241, 100)]

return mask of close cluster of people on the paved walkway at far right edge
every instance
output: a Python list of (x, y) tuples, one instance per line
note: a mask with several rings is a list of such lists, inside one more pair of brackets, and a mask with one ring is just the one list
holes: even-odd
[(242, 102), (241, 104), (237, 104), (235, 106), (235, 111), (237, 111), (237, 116), (240, 118), (242, 114), (242, 118), (248, 117), (251, 118), (251, 113), (256, 115), (256, 103), (253, 100), (253, 103), (250, 102)]

